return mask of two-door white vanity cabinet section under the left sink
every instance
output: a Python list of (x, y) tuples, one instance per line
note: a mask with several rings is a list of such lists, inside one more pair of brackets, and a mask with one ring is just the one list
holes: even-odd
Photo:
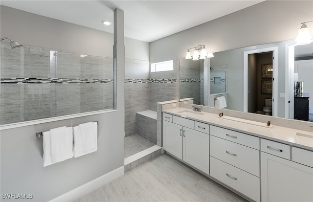
[[(200, 130), (209, 127), (208, 124), (197, 124)], [(163, 113), (163, 148), (189, 165), (209, 173), (209, 135), (196, 131), (195, 121)]]

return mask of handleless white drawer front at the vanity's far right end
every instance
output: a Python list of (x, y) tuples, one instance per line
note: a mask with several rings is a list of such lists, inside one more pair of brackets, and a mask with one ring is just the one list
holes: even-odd
[(291, 147), (292, 161), (313, 167), (313, 152), (297, 147)]

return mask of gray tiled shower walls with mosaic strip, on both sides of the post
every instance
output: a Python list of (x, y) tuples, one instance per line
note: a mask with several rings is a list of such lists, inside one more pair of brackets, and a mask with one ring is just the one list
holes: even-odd
[[(178, 60), (170, 72), (149, 65), (125, 59), (125, 136), (137, 133), (136, 112), (178, 99)], [(112, 72), (112, 58), (1, 43), (0, 124), (112, 109)]]

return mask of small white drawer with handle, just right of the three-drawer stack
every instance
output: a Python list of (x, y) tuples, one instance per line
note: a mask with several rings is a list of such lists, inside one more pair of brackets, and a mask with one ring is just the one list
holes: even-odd
[(290, 146), (287, 144), (261, 139), (261, 151), (290, 160)]

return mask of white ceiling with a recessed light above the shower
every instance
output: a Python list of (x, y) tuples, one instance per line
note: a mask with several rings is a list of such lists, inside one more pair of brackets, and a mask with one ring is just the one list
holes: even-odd
[(178, 33), (263, 0), (1, 0), (0, 4), (113, 33), (113, 10), (124, 11), (125, 37), (144, 42)]

